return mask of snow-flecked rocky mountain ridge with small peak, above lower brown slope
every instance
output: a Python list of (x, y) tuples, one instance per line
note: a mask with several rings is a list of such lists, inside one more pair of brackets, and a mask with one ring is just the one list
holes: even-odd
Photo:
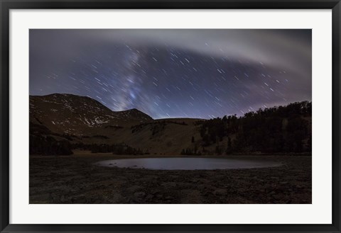
[(153, 120), (137, 109), (114, 112), (86, 96), (51, 94), (30, 96), (30, 122), (49, 130), (71, 135), (87, 135), (93, 128), (134, 125)]

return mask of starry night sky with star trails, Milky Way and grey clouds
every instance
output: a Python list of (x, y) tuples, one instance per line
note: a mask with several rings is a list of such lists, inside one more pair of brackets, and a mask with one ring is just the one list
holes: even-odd
[(152, 118), (311, 101), (311, 30), (30, 30), (30, 95), (90, 96)]

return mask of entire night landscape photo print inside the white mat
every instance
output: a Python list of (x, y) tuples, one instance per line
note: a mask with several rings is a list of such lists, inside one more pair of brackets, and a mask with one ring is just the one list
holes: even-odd
[(30, 204), (311, 204), (310, 29), (30, 29)]

